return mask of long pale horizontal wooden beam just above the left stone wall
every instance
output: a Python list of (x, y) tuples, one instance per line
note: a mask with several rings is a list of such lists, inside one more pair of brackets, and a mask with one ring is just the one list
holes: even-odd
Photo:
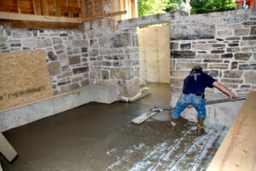
[(52, 17), (35, 14), (15, 14), (0, 12), (0, 19), (3, 20), (30, 20), (30, 21), (44, 21), (44, 22), (64, 22), (64, 23), (82, 23), (79, 18), (67, 17)]

